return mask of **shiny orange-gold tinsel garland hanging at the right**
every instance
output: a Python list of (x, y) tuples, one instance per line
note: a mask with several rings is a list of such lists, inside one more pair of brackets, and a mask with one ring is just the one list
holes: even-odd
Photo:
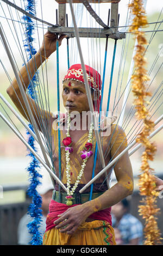
[(145, 219), (145, 245), (156, 245), (160, 243), (160, 231), (156, 222), (156, 214), (159, 209), (156, 206), (156, 197), (158, 192), (155, 191), (155, 177), (153, 169), (149, 167), (149, 160), (154, 159), (156, 147), (148, 139), (148, 136), (154, 129), (154, 123), (149, 120), (149, 112), (146, 107), (148, 101), (147, 96), (151, 95), (146, 92), (146, 81), (149, 80), (147, 71), (144, 68), (146, 60), (144, 57), (145, 47), (147, 44), (145, 35), (140, 31), (141, 27), (147, 25), (147, 18), (145, 10), (143, 10), (142, 0), (133, 0), (129, 7), (134, 15), (133, 23), (130, 27), (130, 32), (133, 32), (137, 39), (136, 53), (135, 53), (135, 67), (134, 75), (131, 76), (132, 90), (135, 96), (135, 109), (137, 119), (143, 120), (142, 132), (137, 136), (136, 141), (142, 143), (145, 151), (142, 154), (141, 170), (142, 174), (139, 179), (139, 187), (141, 196), (145, 196), (142, 202), (144, 205), (139, 205), (139, 212), (142, 218)]

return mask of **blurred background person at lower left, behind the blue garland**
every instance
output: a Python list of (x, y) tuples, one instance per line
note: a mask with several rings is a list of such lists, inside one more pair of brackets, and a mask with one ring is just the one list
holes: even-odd
[[(49, 212), (49, 203), (52, 199), (53, 194), (53, 185), (51, 184), (43, 184), (37, 188), (37, 192), (40, 194), (42, 198), (42, 221), (40, 223), (39, 231), (42, 235), (45, 233), (46, 230), (46, 217)], [(17, 243), (18, 245), (29, 245), (30, 240), (32, 239), (32, 235), (29, 234), (27, 224), (32, 221), (30, 215), (25, 214), (20, 222), (18, 223), (17, 229)]]

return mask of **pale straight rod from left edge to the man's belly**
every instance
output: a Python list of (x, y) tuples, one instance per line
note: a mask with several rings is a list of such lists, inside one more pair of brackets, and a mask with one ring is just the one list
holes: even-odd
[(36, 157), (37, 160), (43, 165), (43, 167), (46, 168), (48, 173), (60, 184), (60, 186), (67, 192), (67, 188), (64, 184), (60, 181), (57, 175), (55, 175), (52, 170), (47, 166), (45, 162), (42, 161), (41, 157), (34, 151), (32, 147), (26, 142), (26, 140), (14, 129), (14, 127), (9, 123), (9, 121), (4, 117), (4, 115), (0, 112), (0, 117), (5, 121), (5, 123), (10, 127), (12, 131), (17, 135), (18, 138), (21, 139), (21, 141), (26, 145), (26, 147), (32, 152), (32, 154)]

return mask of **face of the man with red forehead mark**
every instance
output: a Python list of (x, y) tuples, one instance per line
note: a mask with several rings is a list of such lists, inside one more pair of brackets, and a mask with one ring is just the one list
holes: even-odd
[(89, 111), (89, 103), (87, 100), (84, 83), (73, 80), (67, 80), (63, 84), (62, 99), (64, 107), (69, 113), (72, 111)]

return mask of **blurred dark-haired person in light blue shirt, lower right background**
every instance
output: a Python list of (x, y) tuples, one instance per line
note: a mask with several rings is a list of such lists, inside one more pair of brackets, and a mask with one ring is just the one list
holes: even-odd
[(129, 214), (129, 206), (129, 200), (126, 198), (112, 206), (112, 227), (117, 230), (116, 243), (117, 245), (142, 245), (143, 226), (136, 217)]

